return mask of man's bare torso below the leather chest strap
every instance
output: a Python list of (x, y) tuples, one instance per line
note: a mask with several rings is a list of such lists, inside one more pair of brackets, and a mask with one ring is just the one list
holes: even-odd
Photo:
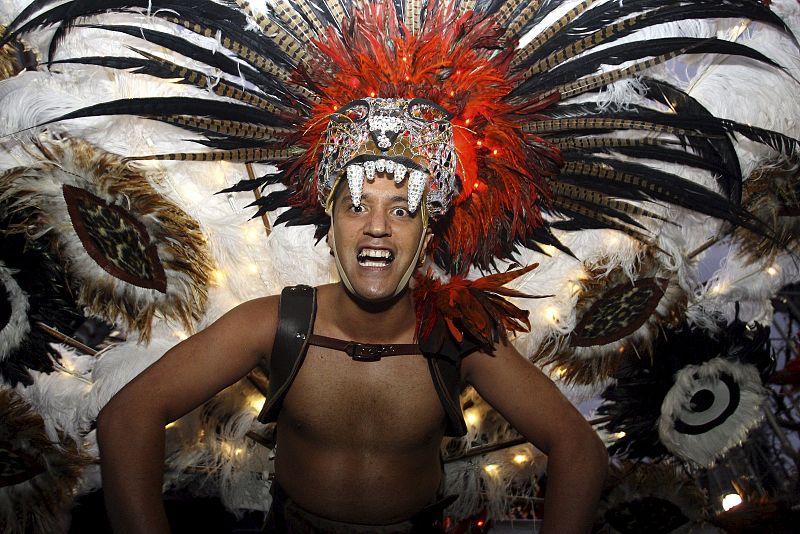
[[(336, 337), (323, 312), (314, 333)], [(310, 346), (278, 419), (277, 480), (322, 517), (407, 519), (437, 495), (444, 422), (422, 355), (360, 362)]]

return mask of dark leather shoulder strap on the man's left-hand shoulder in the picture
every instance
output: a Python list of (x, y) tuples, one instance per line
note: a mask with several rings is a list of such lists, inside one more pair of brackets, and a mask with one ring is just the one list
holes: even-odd
[(316, 289), (286, 287), (278, 307), (278, 327), (269, 363), (267, 403), (258, 415), (262, 423), (278, 420), (283, 398), (303, 365), (317, 312)]

